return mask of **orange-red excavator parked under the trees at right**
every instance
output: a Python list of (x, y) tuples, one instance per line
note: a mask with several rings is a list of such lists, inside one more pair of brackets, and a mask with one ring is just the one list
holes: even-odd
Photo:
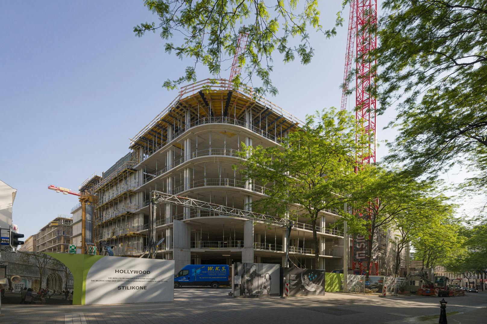
[(423, 283), (421, 287), (416, 291), (416, 294), (418, 295), (451, 297), (460, 295), (461, 292), (463, 292), (463, 290), (457, 292), (454, 289), (450, 289), (448, 285), (450, 279), (445, 276), (434, 276), (434, 282), (432, 282), (426, 271), (408, 273), (405, 280), (399, 287), (400, 292), (404, 292), (404, 290), (406, 289), (406, 284), (410, 282), (412, 277), (420, 278)]

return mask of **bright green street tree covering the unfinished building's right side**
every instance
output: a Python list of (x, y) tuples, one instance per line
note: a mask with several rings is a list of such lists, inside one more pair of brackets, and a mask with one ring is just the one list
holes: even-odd
[[(302, 129), (282, 138), (282, 146), (243, 145), (240, 165), (234, 166), (240, 167), (246, 181), (265, 186), (267, 196), (253, 202), (253, 209), (308, 218), (313, 227), (314, 269), (319, 260), (318, 217), (327, 208), (343, 209), (352, 200), (348, 193), (357, 185), (355, 156), (364, 139), (359, 136), (357, 144), (355, 129), (350, 113), (323, 110), (307, 116)], [(295, 214), (289, 214), (289, 206)]]

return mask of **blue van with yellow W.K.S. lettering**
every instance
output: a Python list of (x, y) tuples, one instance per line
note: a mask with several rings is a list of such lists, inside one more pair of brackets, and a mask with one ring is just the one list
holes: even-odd
[(174, 275), (174, 288), (221, 285), (230, 285), (230, 266), (226, 264), (188, 264)]

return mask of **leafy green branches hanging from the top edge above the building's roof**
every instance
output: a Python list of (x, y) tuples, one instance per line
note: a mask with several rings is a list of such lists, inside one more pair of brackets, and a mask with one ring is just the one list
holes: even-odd
[[(301, 3), (299, 0), (278, 0), (267, 4), (263, 0), (145, 0), (144, 5), (158, 16), (160, 22), (135, 26), (135, 35), (141, 37), (146, 32), (158, 31), (164, 40), (169, 40), (174, 33), (180, 34), (183, 37), (180, 43), (167, 42), (166, 52), (174, 52), (180, 59), (190, 57), (194, 60), (183, 76), (164, 83), (168, 89), (183, 82), (195, 82), (198, 64), (219, 78), (222, 67), (231, 65), (229, 58), (236, 52), (239, 33), (248, 33), (246, 49), (238, 58), (246, 77), (237, 75), (233, 81), (236, 86), (242, 81), (252, 84), (252, 77), (257, 75), (262, 86), (255, 87), (256, 93), (275, 95), (278, 90), (270, 79), (274, 52), (277, 50), (282, 54), (284, 63), (294, 61), (298, 56), (301, 64), (308, 64), (314, 55), (309, 32), (317, 31), (329, 38), (336, 34), (336, 27), (343, 21), (341, 12), (338, 12), (335, 27), (323, 30), (319, 22), (318, 0)], [(297, 45), (291, 45), (295, 37), (300, 40)]]

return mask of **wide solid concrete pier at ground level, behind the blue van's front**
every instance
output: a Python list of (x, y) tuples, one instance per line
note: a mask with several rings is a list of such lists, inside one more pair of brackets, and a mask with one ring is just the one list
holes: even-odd
[(181, 268), (191, 264), (191, 226), (182, 221), (173, 221), (174, 231), (174, 273), (178, 273)]

